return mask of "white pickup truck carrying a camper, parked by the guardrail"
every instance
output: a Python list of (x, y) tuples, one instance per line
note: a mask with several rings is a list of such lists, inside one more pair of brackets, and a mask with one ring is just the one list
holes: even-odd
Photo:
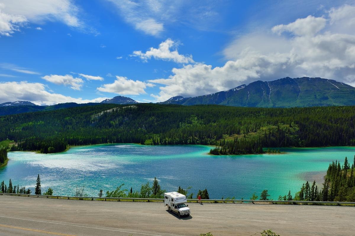
[(164, 206), (168, 207), (170, 212), (175, 212), (179, 217), (190, 215), (189, 205), (186, 205), (187, 199), (185, 195), (178, 192), (164, 193)]

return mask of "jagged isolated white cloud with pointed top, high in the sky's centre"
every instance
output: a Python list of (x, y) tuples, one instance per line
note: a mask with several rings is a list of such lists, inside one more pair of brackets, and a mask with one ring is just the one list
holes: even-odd
[[(192, 60), (191, 55), (184, 56), (179, 54), (177, 49), (178, 45), (179, 43), (174, 42), (171, 39), (166, 39), (164, 42), (159, 44), (159, 48), (157, 49), (151, 47), (144, 53), (142, 51), (133, 51), (133, 55), (131, 56), (140, 57), (144, 61), (147, 61), (153, 57), (157, 60), (174, 61), (176, 63), (193, 63), (194, 61)], [(175, 50), (171, 51), (170, 49)]]

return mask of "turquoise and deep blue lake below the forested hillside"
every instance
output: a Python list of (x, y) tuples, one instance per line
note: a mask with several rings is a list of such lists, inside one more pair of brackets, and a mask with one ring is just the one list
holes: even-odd
[(124, 183), (126, 189), (140, 190), (156, 176), (166, 191), (179, 186), (207, 188), (210, 198), (249, 199), (267, 189), (277, 199), (291, 190), (294, 195), (305, 181), (318, 185), (330, 162), (345, 156), (353, 161), (355, 147), (280, 148), (283, 154), (211, 156), (209, 146), (143, 146), (103, 144), (72, 147), (55, 154), (9, 152), (9, 162), (0, 168), (0, 180), (32, 189), (40, 174), (42, 191), (52, 187), (55, 195), (73, 196), (84, 186), (89, 196), (100, 189), (113, 190)]

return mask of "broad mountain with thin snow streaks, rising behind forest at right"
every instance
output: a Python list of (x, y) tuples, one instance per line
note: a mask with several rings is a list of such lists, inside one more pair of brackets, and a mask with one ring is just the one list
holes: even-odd
[(282, 78), (255, 81), (197, 97), (175, 96), (160, 104), (217, 104), (239, 107), (310, 107), (355, 105), (355, 88), (331, 79)]

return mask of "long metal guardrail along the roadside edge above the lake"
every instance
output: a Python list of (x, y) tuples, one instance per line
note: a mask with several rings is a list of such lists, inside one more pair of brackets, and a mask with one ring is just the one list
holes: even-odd
[[(164, 202), (164, 198), (128, 198), (128, 197), (75, 197), (75, 196), (49, 196), (49, 195), (35, 195), (35, 194), (20, 194), (20, 193), (0, 193), (5, 196), (21, 196), (21, 197), (38, 197), (38, 198), (54, 198), (54, 199), (68, 199), (68, 200), (86, 200), (86, 201), (132, 201), (132, 202)], [(197, 203), (197, 199), (187, 199), (187, 202)], [(327, 204), (327, 205), (354, 205), (355, 202), (322, 202), (322, 201), (274, 201), (274, 200), (235, 200), (235, 199), (201, 199), (204, 203), (286, 203), (286, 204)]]

